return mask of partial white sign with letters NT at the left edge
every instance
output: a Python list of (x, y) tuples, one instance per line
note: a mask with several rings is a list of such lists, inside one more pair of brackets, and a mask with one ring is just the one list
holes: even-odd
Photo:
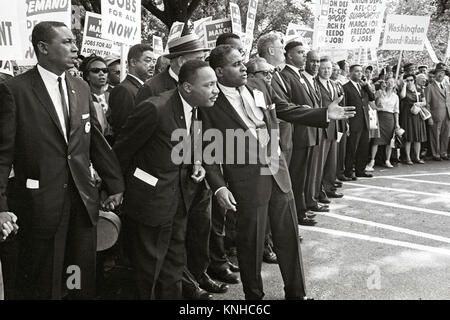
[(0, 0), (0, 6), (4, 9), (0, 11), (0, 57), (3, 60), (23, 58), (19, 8), (16, 2), (7, 0)]

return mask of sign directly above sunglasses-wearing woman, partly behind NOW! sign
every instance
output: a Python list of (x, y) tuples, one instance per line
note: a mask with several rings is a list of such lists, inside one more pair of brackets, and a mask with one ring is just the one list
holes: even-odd
[(87, 57), (96, 54), (100, 57), (119, 56), (120, 43), (102, 38), (101, 33), (102, 16), (86, 12), (84, 19), (83, 42), (81, 43), (80, 54)]

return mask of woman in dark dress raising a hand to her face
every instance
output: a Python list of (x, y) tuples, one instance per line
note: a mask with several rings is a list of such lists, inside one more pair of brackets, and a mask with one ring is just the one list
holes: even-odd
[(425, 106), (425, 97), (422, 89), (416, 87), (416, 77), (413, 74), (403, 76), (403, 86), (400, 90), (400, 125), (405, 129), (406, 164), (412, 165), (411, 144), (414, 146), (414, 162), (424, 163), (420, 159), (420, 145), (427, 141), (427, 128), (416, 109)]

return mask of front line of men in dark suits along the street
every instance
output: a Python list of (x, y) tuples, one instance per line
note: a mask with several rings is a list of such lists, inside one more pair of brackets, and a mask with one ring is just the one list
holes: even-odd
[[(211, 51), (186, 35), (153, 76), (147, 44), (130, 49), (122, 82), (118, 59), (84, 61), (89, 87), (67, 72), (78, 48), (64, 24), (39, 23), (32, 43), (38, 65), (0, 84), (7, 299), (94, 298), (100, 207), (123, 221), (136, 298), (212, 299), (242, 281), (246, 299), (262, 299), (265, 261), (279, 264), (286, 299), (309, 299), (297, 225), (316, 224), (342, 181), (371, 176), (362, 66), (347, 79), (345, 62), (276, 33), (248, 62), (238, 35)], [(108, 139), (91, 95), (106, 74)], [(81, 270), (76, 288), (68, 266)]]

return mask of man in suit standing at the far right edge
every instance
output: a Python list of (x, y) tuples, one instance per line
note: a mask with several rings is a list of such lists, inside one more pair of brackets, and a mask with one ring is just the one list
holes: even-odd
[(430, 144), (433, 159), (450, 160), (447, 155), (450, 131), (450, 86), (444, 81), (445, 69), (436, 68), (435, 78), (425, 89), (427, 108), (431, 112), (428, 119)]

